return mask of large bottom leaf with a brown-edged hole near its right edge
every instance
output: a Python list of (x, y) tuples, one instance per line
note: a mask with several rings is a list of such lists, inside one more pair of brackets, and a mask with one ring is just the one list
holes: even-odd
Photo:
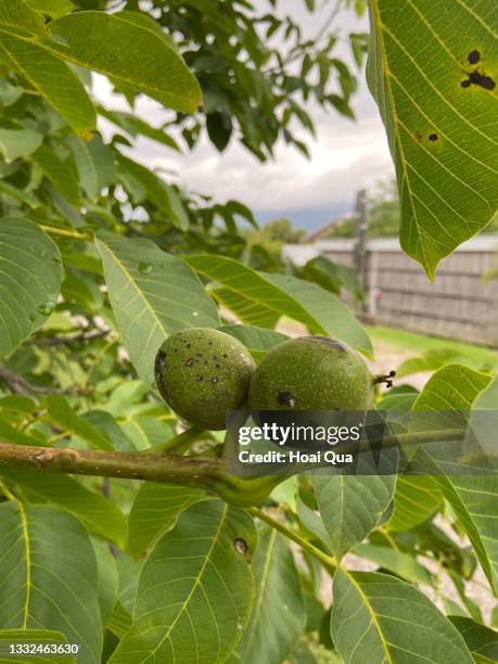
[(206, 500), (184, 511), (143, 564), (133, 626), (111, 662), (224, 662), (248, 622), (255, 545), (241, 510)]

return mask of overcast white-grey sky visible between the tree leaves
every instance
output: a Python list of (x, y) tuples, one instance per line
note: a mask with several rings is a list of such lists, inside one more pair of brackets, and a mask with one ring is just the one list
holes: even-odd
[[(280, 4), (299, 20), (307, 36), (316, 34), (331, 7), (327, 3), (327, 12), (310, 15), (301, 1)], [(334, 25), (345, 33), (367, 31), (368, 20), (357, 20), (352, 12), (341, 13)], [(350, 62), (346, 43), (340, 44), (335, 53)], [(120, 95), (112, 94), (103, 77), (95, 77), (94, 93), (107, 107), (128, 110)], [(324, 113), (316, 105), (308, 105), (317, 136), (312, 139), (303, 132), (299, 138), (309, 146), (310, 159), (281, 142), (273, 161), (260, 164), (237, 141), (219, 154), (205, 138), (183, 155), (139, 139), (133, 157), (169, 171), (188, 189), (213, 194), (220, 202), (242, 201), (254, 209), (260, 221), (288, 216), (296, 226), (317, 228), (350, 210), (357, 189), (371, 188), (379, 179), (393, 174), (384, 128), (363, 77), (352, 105), (356, 122), (341, 117), (333, 110)], [(137, 111), (151, 124), (165, 120), (161, 106), (148, 98), (140, 99)], [(105, 126), (102, 129), (107, 132)]]

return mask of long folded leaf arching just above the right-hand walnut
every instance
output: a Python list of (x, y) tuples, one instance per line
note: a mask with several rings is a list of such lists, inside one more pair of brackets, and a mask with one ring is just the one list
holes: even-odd
[(274, 327), (281, 316), (305, 324), (310, 332), (337, 336), (371, 352), (370, 340), (349, 310), (332, 293), (284, 274), (260, 274), (224, 256), (184, 256), (203, 277), (220, 288), (214, 296), (248, 325)]

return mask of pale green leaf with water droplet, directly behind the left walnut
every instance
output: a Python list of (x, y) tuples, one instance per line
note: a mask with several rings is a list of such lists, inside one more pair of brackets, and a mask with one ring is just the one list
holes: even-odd
[(166, 336), (186, 328), (217, 328), (218, 312), (189, 266), (149, 240), (100, 232), (95, 242), (123, 341), (139, 375), (151, 384)]

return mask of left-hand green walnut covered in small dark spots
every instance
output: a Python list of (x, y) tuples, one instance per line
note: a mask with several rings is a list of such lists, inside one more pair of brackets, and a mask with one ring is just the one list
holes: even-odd
[(200, 429), (226, 429), (226, 416), (245, 400), (256, 365), (237, 339), (207, 328), (169, 336), (155, 359), (164, 400)]

